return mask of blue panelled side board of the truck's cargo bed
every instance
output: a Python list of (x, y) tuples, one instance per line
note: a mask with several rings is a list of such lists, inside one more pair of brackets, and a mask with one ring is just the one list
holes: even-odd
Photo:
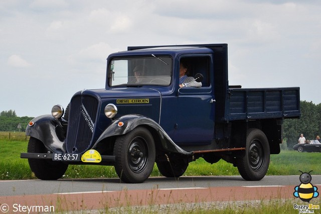
[(299, 87), (230, 88), (225, 120), (299, 118)]

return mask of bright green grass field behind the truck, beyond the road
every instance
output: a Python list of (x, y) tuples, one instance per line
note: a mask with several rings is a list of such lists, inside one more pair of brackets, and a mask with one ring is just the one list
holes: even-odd
[[(0, 179), (35, 179), (27, 159), (21, 159), (20, 153), (27, 151), (28, 141), (0, 140)], [(300, 175), (298, 170), (311, 171), (311, 174), (321, 174), (321, 153), (299, 153), (296, 151), (281, 151), (271, 155), (267, 175)], [(200, 158), (191, 162), (183, 176), (199, 175), (239, 175), (236, 167), (223, 160), (209, 164)], [(151, 176), (162, 176), (157, 167)], [(117, 177), (112, 166), (70, 165), (63, 178), (111, 178)]]

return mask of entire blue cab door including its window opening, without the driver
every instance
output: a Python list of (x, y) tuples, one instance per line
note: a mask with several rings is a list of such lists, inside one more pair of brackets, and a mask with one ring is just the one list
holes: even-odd
[(203, 75), (202, 87), (178, 89), (173, 100), (176, 109), (173, 140), (182, 146), (207, 145), (214, 136), (215, 97), (212, 87), (211, 55), (182, 56), (180, 60), (190, 63), (189, 75)]

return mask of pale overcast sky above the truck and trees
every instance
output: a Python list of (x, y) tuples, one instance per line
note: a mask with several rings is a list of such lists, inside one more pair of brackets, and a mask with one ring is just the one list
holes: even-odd
[(103, 88), (127, 46), (227, 43), (229, 83), (321, 102), (321, 1), (1, 0), (0, 112), (51, 114)]

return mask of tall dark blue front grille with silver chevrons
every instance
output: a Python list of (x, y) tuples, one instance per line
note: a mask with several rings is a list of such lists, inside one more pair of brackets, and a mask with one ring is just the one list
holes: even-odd
[(66, 150), (83, 153), (92, 145), (98, 100), (92, 96), (76, 96), (69, 106)]

